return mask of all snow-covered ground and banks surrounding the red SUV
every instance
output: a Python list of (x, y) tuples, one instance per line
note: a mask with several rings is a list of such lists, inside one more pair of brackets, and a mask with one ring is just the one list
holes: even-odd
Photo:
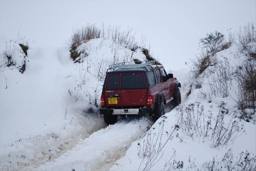
[(33, 44), (24, 57), (20, 40), (11, 41), (11, 66), (1, 40), (0, 170), (255, 169), (255, 111), (244, 109), (247, 122), (237, 105), (236, 69), (247, 60), (239, 47), (214, 54), (197, 78), (163, 64), (181, 83), (182, 103), (154, 124), (108, 126), (97, 112), (108, 65), (148, 58), (143, 46), (114, 40), (86, 40), (73, 59), (66, 46)]

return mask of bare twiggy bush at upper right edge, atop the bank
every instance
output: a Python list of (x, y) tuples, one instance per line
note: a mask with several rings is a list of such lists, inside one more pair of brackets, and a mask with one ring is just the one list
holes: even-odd
[(248, 23), (237, 35), (237, 46), (241, 53), (247, 57), (256, 59), (256, 29), (255, 24)]

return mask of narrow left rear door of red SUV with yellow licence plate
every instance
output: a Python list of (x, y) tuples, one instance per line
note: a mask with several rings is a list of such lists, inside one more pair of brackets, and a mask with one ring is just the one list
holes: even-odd
[(121, 74), (108, 74), (105, 83), (104, 100), (105, 106), (122, 106), (121, 98)]

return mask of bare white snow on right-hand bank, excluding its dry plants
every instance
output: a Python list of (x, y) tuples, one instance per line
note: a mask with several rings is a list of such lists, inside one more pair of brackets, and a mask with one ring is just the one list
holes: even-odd
[[(237, 56), (241, 56), (241, 58), (236, 60), (235, 57)], [(209, 86), (208, 72), (214, 70), (215, 72), (211, 72), (211, 74), (218, 73), (220, 60), (223, 61), (224, 58), (227, 58), (229, 60), (231, 69), (233, 69), (232, 67), (235, 67), (236, 64), (239, 64), (239, 62), (243, 61), (244, 59), (243, 55), (239, 54), (238, 48), (235, 45), (229, 49), (218, 52), (215, 57), (218, 64), (216, 66), (207, 68), (205, 73), (203, 73), (201, 78), (199, 78), (202, 80), (202, 88), (192, 88), (191, 94), (185, 100), (184, 94), (188, 91), (188, 85), (192, 83), (192, 80), (187, 79), (186, 76), (182, 77), (180, 74), (183, 73), (182, 71), (177, 72), (179, 75), (177, 78), (181, 82), (181, 87), (183, 87), (183, 83), (185, 85), (185, 88), (181, 89), (181, 92), (183, 92), (183, 102), (171, 112), (166, 113), (164, 117), (158, 119), (147, 132), (149, 136), (145, 136), (140, 140), (133, 142), (131, 147), (126, 151), (126, 155), (117, 160), (110, 170), (209, 170), (207, 167), (207, 162), (213, 160), (214, 157), (215, 160), (217, 159), (217, 161), (216, 165), (213, 167), (213, 170), (227, 170), (227, 165), (225, 162), (223, 162), (223, 158), (225, 154), (230, 151), (234, 156), (234, 158), (231, 159), (233, 169), (241, 170), (242, 167), (235, 165), (235, 163), (238, 161), (236, 157), (239, 158), (241, 152), (245, 151), (248, 151), (252, 157), (256, 155), (255, 123), (253, 124), (253, 121), (248, 123), (244, 120), (240, 120), (239, 122), (239, 119), (236, 118), (236, 112), (239, 113), (239, 110), (236, 107), (236, 93), (239, 90), (237, 90), (235, 79), (232, 78), (232, 84), (228, 85), (228, 97), (223, 98), (220, 96), (220, 94), (216, 94), (216, 96), (213, 95), (211, 97), (211, 102), (209, 103), (208, 98), (202, 96), (203, 88), (206, 92), (211, 91), (211, 87)], [(210, 76), (212, 77), (212, 75)], [(211, 81), (214, 82), (217, 80)], [(220, 145), (215, 148), (212, 147), (213, 140), (211, 140), (210, 137), (196, 136), (195, 133), (193, 136), (191, 136), (190, 133), (185, 133), (186, 130), (184, 132), (181, 128), (176, 130), (174, 129), (175, 125), (178, 124), (180, 114), (178, 110), (180, 110), (181, 107), (186, 108), (190, 104), (197, 103), (200, 104), (199, 106), (204, 108), (204, 119), (201, 118), (201, 121), (204, 120), (206, 123), (211, 116), (210, 111), (212, 111), (211, 122), (214, 126), (218, 119), (217, 114), (219, 112), (219, 105), (222, 104), (222, 101), (225, 101), (226, 103), (225, 110), (229, 111), (224, 116), (224, 125), (228, 126), (229, 121), (232, 120), (239, 122), (239, 124), (242, 124), (242, 127), (244, 127), (244, 132), (241, 131), (238, 136), (234, 137), (233, 140), (230, 140), (228, 144), (223, 146)], [(197, 112), (200, 111), (200, 108), (195, 108), (194, 110)], [(199, 123), (199, 125), (201, 124), (203, 123)], [(174, 132), (172, 136), (170, 136), (170, 133), (173, 130)], [(156, 137), (156, 135), (159, 133), (161, 134), (161, 139)], [(165, 142), (166, 144), (164, 146), (163, 144)], [(161, 148), (162, 150), (159, 151)], [(157, 155), (154, 156), (154, 152), (156, 152)], [(182, 167), (179, 167), (181, 161), (183, 162)], [(252, 161), (252, 165), (252, 168), (255, 169), (255, 160)]]

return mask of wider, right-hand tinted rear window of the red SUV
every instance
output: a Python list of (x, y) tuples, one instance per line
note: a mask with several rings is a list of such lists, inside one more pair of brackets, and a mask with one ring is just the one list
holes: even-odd
[(122, 74), (122, 89), (145, 88), (143, 74)]

